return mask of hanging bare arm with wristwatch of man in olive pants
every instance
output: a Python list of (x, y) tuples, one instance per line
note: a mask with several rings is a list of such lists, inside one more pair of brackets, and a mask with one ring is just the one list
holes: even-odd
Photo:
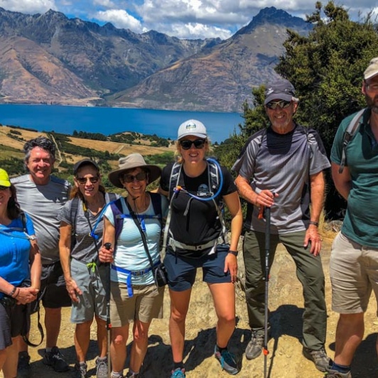
[[(315, 175), (310, 176), (311, 185), (311, 221), (319, 222), (320, 214), (323, 210), (324, 204), (324, 190), (325, 190), (325, 180), (323, 171), (315, 173)], [(306, 230), (306, 236), (303, 243), (304, 247), (308, 246), (311, 242), (310, 252), (317, 256), (320, 254), (321, 249), (321, 239), (318, 232), (318, 227), (315, 225), (309, 225)]]

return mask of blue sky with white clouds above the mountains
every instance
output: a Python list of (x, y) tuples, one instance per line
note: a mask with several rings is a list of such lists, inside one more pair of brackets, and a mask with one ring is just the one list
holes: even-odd
[[(327, 4), (327, 0), (323, 4)], [(368, 11), (378, 14), (377, 0), (335, 1), (349, 9), (353, 19)], [(135, 33), (151, 29), (178, 38), (229, 38), (249, 23), (260, 9), (275, 6), (305, 18), (315, 0), (0, 0), (9, 11), (35, 14), (48, 9), (99, 24), (113, 23)]]

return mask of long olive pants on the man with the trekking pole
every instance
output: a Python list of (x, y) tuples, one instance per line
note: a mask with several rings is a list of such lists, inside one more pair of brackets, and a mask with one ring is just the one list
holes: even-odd
[[(305, 231), (271, 234), (269, 266), (273, 263), (279, 242), (296, 264), (296, 275), (303, 286), (303, 346), (312, 350), (324, 347), (327, 331), (327, 308), (324, 297), (324, 273), (320, 256), (314, 257), (310, 247), (303, 247)], [(243, 257), (246, 276), (246, 301), (249, 326), (264, 334), (265, 306), (265, 234), (247, 231), (244, 235)]]

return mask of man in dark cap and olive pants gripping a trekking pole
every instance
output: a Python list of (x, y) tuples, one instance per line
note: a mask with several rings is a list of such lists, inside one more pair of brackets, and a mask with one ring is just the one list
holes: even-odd
[(293, 257), (303, 285), (303, 355), (324, 372), (329, 359), (324, 349), (327, 311), (318, 221), (325, 189), (323, 170), (330, 163), (318, 133), (293, 121), (298, 107), (294, 95), (288, 80), (266, 87), (264, 105), (271, 125), (249, 138), (232, 168), (239, 174), (235, 180), (239, 193), (248, 202), (243, 257), (252, 340), (246, 357), (258, 357), (264, 345), (265, 221), (259, 212), (270, 207), (269, 266), (281, 242)]

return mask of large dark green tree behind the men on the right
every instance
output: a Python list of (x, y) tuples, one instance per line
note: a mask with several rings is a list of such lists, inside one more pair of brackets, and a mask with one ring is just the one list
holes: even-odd
[[(351, 21), (347, 10), (333, 1), (325, 6), (317, 2), (307, 21), (313, 24), (308, 36), (287, 31), (286, 53), (280, 57), (275, 70), (296, 88), (300, 99), (296, 121), (318, 130), (329, 155), (342, 119), (365, 107), (362, 77), (369, 61), (378, 56), (378, 28), (372, 13), (358, 22)], [(244, 125), (239, 125), (240, 133), (216, 150), (228, 168), (249, 136), (267, 124), (264, 85), (252, 90), (252, 94), (253, 107), (244, 103)], [(340, 206), (345, 203), (340, 202), (328, 177), (326, 210), (335, 216)]]

